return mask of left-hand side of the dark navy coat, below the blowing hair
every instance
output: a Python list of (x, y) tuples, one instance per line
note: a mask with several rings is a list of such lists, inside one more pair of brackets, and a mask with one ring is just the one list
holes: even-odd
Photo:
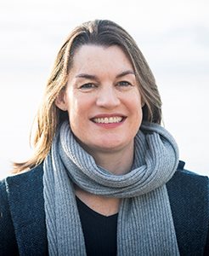
[(37, 248), (47, 248), (42, 173), (40, 165), (0, 182), (0, 252), (5, 255), (32, 248), (35, 255)]

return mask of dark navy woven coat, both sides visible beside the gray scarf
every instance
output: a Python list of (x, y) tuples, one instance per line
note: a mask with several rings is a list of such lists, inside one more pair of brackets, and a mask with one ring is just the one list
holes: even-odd
[[(40, 165), (0, 183), (1, 256), (48, 255), (42, 173)], [(167, 191), (180, 254), (209, 255), (208, 177), (184, 170), (180, 162)]]

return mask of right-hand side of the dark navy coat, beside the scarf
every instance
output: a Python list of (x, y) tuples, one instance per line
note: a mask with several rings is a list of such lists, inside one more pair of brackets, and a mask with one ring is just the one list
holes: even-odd
[(180, 161), (177, 172), (167, 183), (167, 192), (181, 252), (203, 254), (209, 224), (208, 177), (185, 170), (184, 162)]

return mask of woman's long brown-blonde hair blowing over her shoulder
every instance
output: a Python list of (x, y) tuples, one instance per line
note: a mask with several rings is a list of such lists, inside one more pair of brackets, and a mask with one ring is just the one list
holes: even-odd
[(42, 163), (51, 148), (58, 125), (68, 119), (68, 114), (56, 107), (55, 99), (61, 90), (65, 90), (76, 50), (85, 44), (105, 47), (118, 45), (123, 49), (132, 61), (138, 79), (138, 89), (144, 102), (143, 119), (161, 123), (161, 96), (150, 67), (133, 38), (113, 21), (89, 21), (77, 26), (59, 49), (33, 125), (34, 153), (24, 163), (14, 163), (14, 172), (21, 172)]

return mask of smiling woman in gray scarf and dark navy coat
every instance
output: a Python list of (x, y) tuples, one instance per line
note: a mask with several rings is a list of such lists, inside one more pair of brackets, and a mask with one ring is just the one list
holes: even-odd
[(204, 255), (208, 178), (184, 170), (121, 26), (76, 27), (37, 113), (35, 153), (1, 183), (3, 255)]

